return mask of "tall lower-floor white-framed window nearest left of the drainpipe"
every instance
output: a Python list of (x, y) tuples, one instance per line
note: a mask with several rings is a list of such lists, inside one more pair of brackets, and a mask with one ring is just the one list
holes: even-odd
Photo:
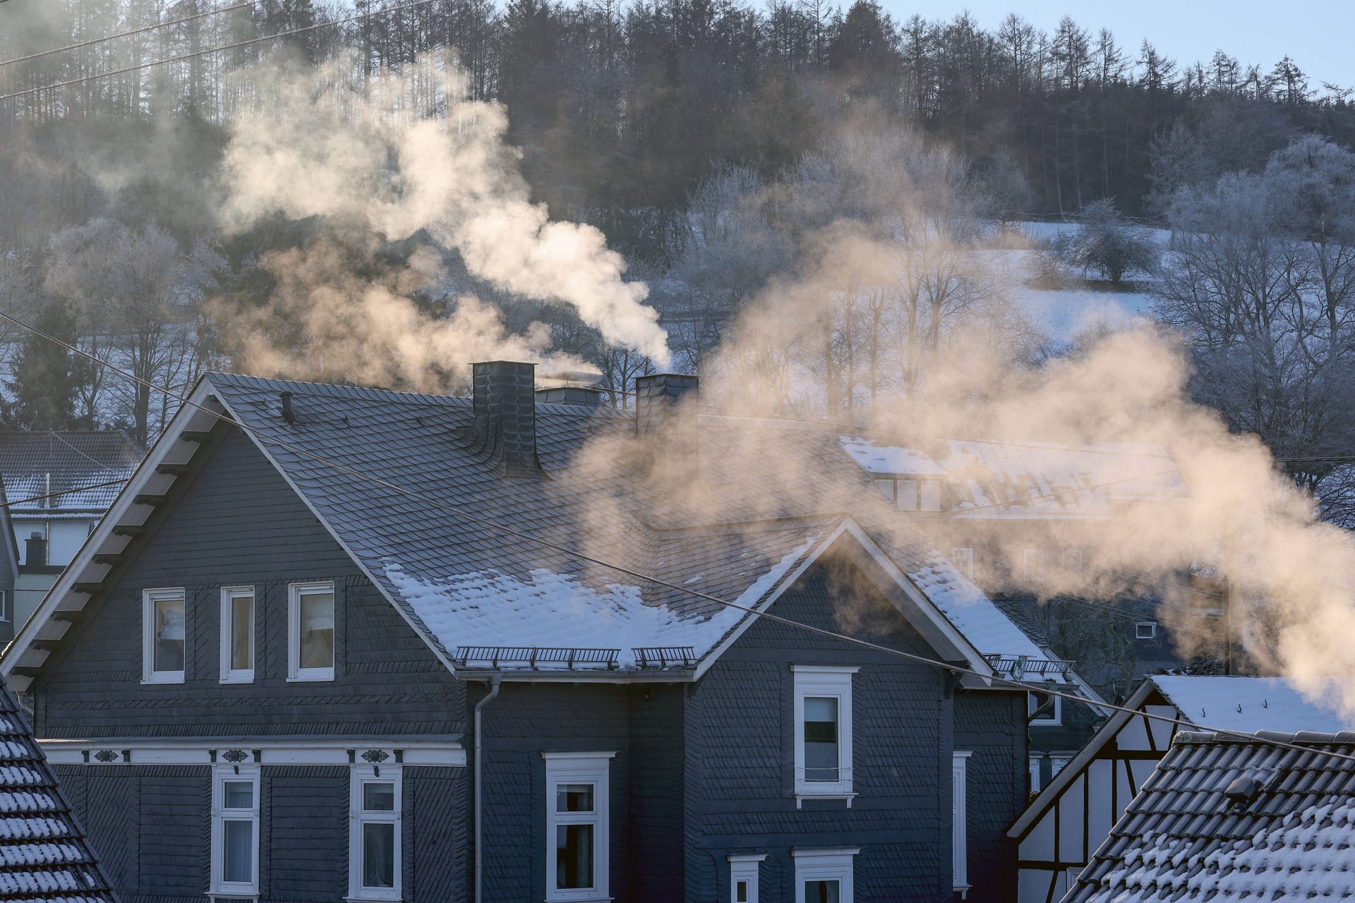
[(348, 899), (400, 899), (398, 765), (352, 769), (348, 791)]

